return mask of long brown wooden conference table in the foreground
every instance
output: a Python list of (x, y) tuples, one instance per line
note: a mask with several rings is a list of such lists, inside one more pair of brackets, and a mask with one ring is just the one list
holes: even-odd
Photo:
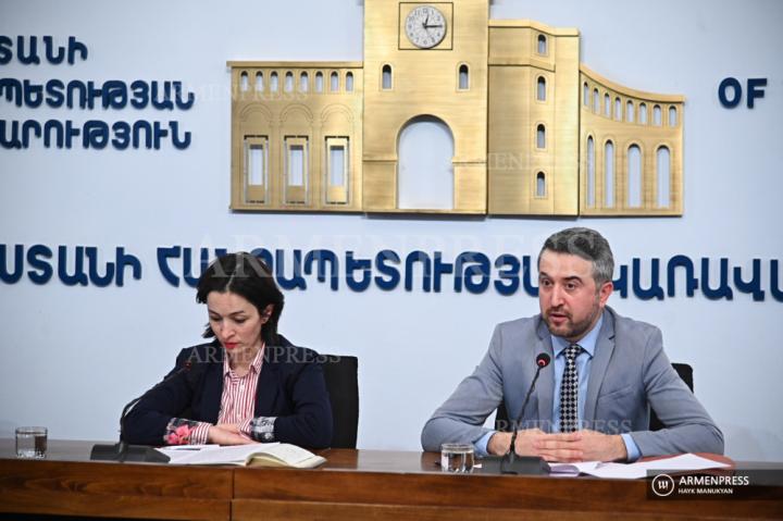
[[(91, 442), (50, 441), (18, 460), (0, 439), (0, 512), (188, 520), (783, 519), (765, 499), (651, 499), (649, 481), (444, 474), (438, 455), (328, 449), (314, 470), (89, 461)], [(778, 468), (783, 464), (749, 466)], [(739, 467), (739, 466), (738, 466)]]

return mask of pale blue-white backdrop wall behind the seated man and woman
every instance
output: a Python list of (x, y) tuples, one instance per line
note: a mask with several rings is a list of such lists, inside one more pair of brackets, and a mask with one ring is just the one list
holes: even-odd
[[(660, 1), (655, 9), (622, 1), (497, 0), (492, 18), (532, 18), (577, 27), (582, 62), (622, 85), (683, 94), (685, 214), (681, 219), (422, 219), (366, 215), (232, 213), (231, 88), (227, 60), (362, 60), (360, 1), (132, 3), (2, 0), (0, 35), (75, 36), (89, 48), (74, 65), (0, 65), (0, 77), (45, 82), (79, 78), (178, 79), (196, 95), (190, 110), (121, 112), (18, 108), (0, 97), (0, 117), (177, 120), (191, 133), (185, 150), (171, 145), (103, 150), (0, 149), (0, 244), (5, 266), (15, 245), (116, 247), (139, 259), (140, 280), (122, 287), (66, 286), (55, 276), (0, 282), (0, 436), (44, 424), (58, 438), (112, 439), (122, 406), (158, 381), (182, 347), (198, 343), (207, 320), (195, 290), (174, 287), (157, 265), (159, 247), (290, 251), (325, 248), (372, 258), (383, 249), (421, 249), (453, 259), (464, 250), (535, 257), (544, 238), (574, 225), (598, 228), (619, 264), (675, 255), (747, 270), (761, 259), (762, 301), (735, 290), (710, 300), (699, 289), (663, 300), (612, 296), (621, 313), (659, 325), (672, 360), (695, 367), (696, 394), (726, 437), (729, 456), (783, 460), (783, 393), (779, 323), (770, 295), (770, 260), (781, 259), (783, 193), (783, 5), (728, 1)], [(15, 47), (15, 46), (14, 46)], [(766, 77), (756, 108), (728, 110), (718, 85)], [(73, 258), (66, 263), (73, 271)], [(172, 265), (178, 265), (172, 263)], [(698, 264), (697, 264), (698, 265)], [(25, 265), (25, 270), (29, 270)], [(698, 270), (698, 268), (697, 268)], [(198, 274), (198, 270), (196, 275)], [(57, 273), (57, 268), (54, 268)], [(182, 269), (179, 269), (182, 273)], [(779, 274), (783, 278), (783, 274)], [(432, 411), (483, 356), (497, 322), (537, 312), (524, 291), (457, 293), (450, 282), (425, 293), (376, 286), (332, 290), (308, 280), (286, 294), (281, 331), (300, 345), (360, 359), (360, 448), (420, 448)], [(666, 286), (664, 286), (666, 287)]]

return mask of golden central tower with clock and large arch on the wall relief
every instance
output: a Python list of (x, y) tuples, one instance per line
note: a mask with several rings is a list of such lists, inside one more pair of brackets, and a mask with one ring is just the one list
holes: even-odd
[[(487, 212), (488, 0), (364, 2), (363, 209)], [(399, 140), (419, 120), (453, 139), (448, 209), (400, 209)]]

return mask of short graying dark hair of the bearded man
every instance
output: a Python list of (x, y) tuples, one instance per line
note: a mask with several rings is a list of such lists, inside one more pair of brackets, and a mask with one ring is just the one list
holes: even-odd
[(538, 268), (540, 268), (540, 256), (546, 250), (570, 253), (591, 261), (596, 286), (612, 281), (614, 257), (607, 239), (595, 230), (573, 227), (550, 235), (538, 253)]

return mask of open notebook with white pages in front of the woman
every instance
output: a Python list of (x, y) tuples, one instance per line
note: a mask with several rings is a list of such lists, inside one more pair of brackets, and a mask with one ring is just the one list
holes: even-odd
[(220, 445), (177, 446), (158, 450), (171, 458), (170, 464), (237, 464), (312, 469), (326, 461), (321, 456), (286, 443), (259, 443), (229, 447)]

